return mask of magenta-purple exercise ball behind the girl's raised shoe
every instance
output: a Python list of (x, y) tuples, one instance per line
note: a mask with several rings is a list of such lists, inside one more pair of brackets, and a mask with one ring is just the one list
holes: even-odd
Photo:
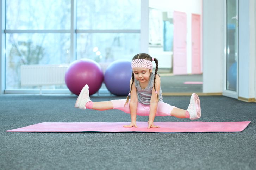
[(89, 93), (96, 93), (104, 80), (103, 72), (98, 63), (91, 59), (76, 60), (70, 64), (65, 73), (68, 89), (79, 95), (85, 84), (89, 86)]

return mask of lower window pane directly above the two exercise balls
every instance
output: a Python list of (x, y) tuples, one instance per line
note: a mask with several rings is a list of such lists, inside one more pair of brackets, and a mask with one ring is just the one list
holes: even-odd
[(89, 58), (96, 62), (132, 60), (139, 53), (139, 43), (140, 34), (136, 33), (77, 34), (77, 58)]

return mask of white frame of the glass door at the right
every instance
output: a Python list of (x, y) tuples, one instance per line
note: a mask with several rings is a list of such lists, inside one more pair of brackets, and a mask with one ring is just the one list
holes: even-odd
[(238, 28), (236, 32), (237, 36), (237, 79), (236, 79), (236, 91), (231, 91), (227, 90), (227, 0), (224, 1), (224, 23), (223, 23), (223, 30), (224, 30), (224, 36), (223, 36), (223, 42), (224, 42), (224, 50), (223, 50), (223, 96), (231, 97), (231, 98), (236, 98), (238, 99), (238, 69), (239, 69), (239, 14), (238, 14), (238, 0), (236, 0), (236, 13), (237, 13), (237, 23), (238, 23)]

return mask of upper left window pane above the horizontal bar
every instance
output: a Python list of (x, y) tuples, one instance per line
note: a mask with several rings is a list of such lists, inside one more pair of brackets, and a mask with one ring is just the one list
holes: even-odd
[(6, 0), (6, 29), (70, 29), (70, 0)]

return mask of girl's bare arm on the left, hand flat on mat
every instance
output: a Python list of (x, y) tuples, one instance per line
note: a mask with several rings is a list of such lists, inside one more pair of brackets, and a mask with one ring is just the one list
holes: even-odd
[[(132, 79), (130, 80), (130, 87), (132, 84)], [(131, 91), (131, 100), (130, 100), (130, 114), (131, 114), (131, 124), (125, 125), (124, 127), (136, 127), (136, 117), (137, 117), (137, 106), (138, 106), (138, 96), (137, 96), (137, 90), (135, 87), (135, 82), (132, 84), (132, 91)]]

